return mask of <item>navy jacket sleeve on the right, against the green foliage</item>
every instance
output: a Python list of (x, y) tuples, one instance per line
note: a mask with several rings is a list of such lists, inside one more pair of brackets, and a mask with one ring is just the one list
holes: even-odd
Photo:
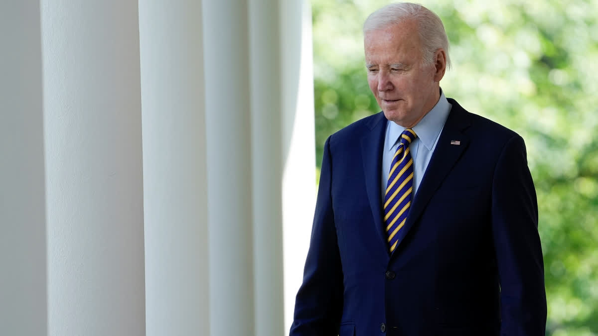
[(501, 335), (545, 335), (547, 308), (538, 201), (525, 144), (518, 135), (508, 140), (496, 164), (492, 233), (501, 283)]

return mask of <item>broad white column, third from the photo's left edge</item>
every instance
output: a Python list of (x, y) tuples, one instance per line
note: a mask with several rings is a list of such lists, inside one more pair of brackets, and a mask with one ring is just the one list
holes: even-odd
[(209, 335), (200, 2), (139, 1), (139, 34), (147, 335)]

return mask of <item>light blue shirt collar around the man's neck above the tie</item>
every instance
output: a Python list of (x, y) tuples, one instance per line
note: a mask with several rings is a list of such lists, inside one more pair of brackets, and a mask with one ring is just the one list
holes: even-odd
[[(429, 151), (432, 150), (436, 138), (438, 138), (440, 131), (443, 129), (444, 122), (447, 120), (447, 117), (449, 117), (451, 107), (452, 105), (444, 96), (443, 90), (440, 89), (440, 99), (438, 99), (436, 105), (434, 105), (430, 112), (428, 112), (416, 126), (412, 127), (417, 135), (417, 139), (420, 139)], [(388, 124), (389, 139), (394, 139), (394, 141), (391, 140), (387, 143), (386, 150), (389, 151), (395, 145), (399, 136), (401, 136), (401, 133), (405, 130), (405, 127), (398, 126), (393, 122), (389, 122)]]

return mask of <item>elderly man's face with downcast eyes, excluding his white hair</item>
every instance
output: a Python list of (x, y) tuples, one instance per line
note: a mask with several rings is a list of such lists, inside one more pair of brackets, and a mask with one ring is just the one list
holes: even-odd
[(406, 20), (365, 33), (368, 83), (388, 120), (413, 127), (438, 102), (437, 66), (425, 65), (417, 23)]

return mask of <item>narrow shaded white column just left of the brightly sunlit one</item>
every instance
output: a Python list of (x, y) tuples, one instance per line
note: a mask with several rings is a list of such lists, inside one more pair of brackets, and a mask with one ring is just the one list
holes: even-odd
[(249, 1), (255, 335), (284, 335), (278, 0)]

